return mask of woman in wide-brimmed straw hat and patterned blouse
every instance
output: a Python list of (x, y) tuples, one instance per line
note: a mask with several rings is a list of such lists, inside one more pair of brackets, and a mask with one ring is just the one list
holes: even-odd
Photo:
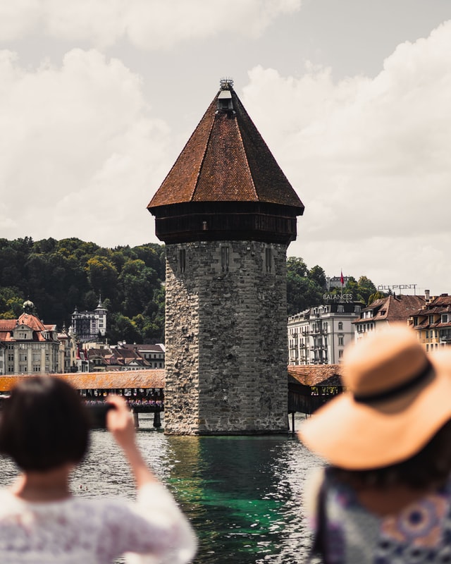
[[(310, 480), (324, 563), (451, 563), (451, 349), (407, 326), (345, 350), (345, 393), (299, 431), (328, 465)], [(314, 504), (314, 505), (312, 505)]]

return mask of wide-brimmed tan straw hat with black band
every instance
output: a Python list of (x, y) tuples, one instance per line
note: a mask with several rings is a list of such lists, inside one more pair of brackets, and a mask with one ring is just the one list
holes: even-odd
[(451, 348), (428, 355), (405, 325), (350, 345), (342, 381), (345, 392), (299, 430), (299, 439), (332, 465), (371, 470), (402, 462), (451, 419)]

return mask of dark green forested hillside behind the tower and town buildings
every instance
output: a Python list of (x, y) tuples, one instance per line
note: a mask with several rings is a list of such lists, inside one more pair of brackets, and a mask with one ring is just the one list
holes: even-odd
[[(289, 315), (323, 302), (321, 266), (290, 257), (287, 269)], [(163, 343), (164, 279), (164, 245), (156, 243), (109, 249), (77, 238), (0, 239), (0, 319), (17, 319), (30, 299), (41, 319), (61, 329), (75, 307), (91, 311), (101, 295), (109, 342)], [(365, 303), (376, 296), (366, 276), (350, 278), (344, 291)]]

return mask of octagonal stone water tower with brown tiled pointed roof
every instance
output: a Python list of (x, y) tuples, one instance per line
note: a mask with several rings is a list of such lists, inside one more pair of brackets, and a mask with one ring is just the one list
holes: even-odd
[(166, 433), (287, 430), (285, 264), (304, 206), (231, 80), (148, 209), (166, 243)]

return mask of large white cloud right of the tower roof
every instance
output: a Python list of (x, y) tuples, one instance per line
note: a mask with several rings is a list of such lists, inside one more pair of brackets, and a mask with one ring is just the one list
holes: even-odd
[(431, 276), (441, 257), (449, 286), (451, 21), (400, 44), (373, 79), (334, 82), (311, 66), (301, 78), (257, 67), (249, 79), (243, 102), (306, 204), (291, 252), (307, 259), (310, 247), (335, 274), (347, 256), (387, 277), (409, 265)]

